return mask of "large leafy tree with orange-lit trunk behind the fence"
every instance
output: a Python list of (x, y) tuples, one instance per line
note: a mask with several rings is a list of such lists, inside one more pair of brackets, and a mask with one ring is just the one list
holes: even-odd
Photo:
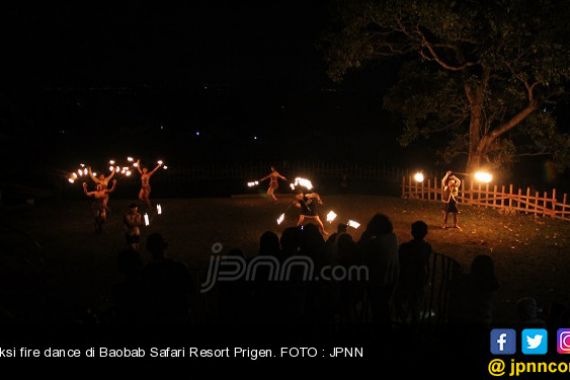
[(548, 0), (339, 2), (327, 38), (329, 75), (398, 57), (384, 106), (402, 116), (401, 143), (441, 134), (467, 170), (517, 155), (569, 163), (553, 115), (570, 76), (570, 4)]

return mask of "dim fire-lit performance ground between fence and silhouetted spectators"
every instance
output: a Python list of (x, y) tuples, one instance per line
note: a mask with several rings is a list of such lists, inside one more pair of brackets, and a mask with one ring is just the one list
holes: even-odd
[[(275, 221), (290, 199), (158, 200), (164, 213), (153, 215), (151, 226), (143, 233), (161, 232), (169, 242), (171, 256), (191, 268), (205, 268), (214, 243), (223, 244), (225, 252), (239, 247), (252, 256), (264, 231), (281, 232), (294, 225), (293, 210), (281, 226)], [(322, 214), (332, 209), (339, 215), (337, 222), (350, 218), (363, 224), (359, 230), (351, 229), (355, 238), (375, 212), (383, 212), (392, 219), (401, 242), (410, 238), (412, 222), (424, 220), (430, 227), (427, 240), (434, 250), (453, 257), (464, 270), (478, 254), (493, 256), (502, 284), (497, 302), (499, 319), (514, 318), (514, 303), (523, 296), (534, 296), (541, 305), (570, 304), (570, 223), (465, 206), (460, 214), (463, 229), (443, 230), (438, 203), (357, 195), (325, 196), (324, 201)], [(3, 225), (25, 231), (41, 245), (36, 250), (29, 239), (3, 232), (0, 285), (4, 292), (27, 289), (33, 303), (32, 293), (41, 287), (62, 305), (105, 305), (119, 279), (115, 258), (124, 247), (121, 220), (128, 203), (111, 200), (113, 212), (102, 235), (93, 232), (87, 200), (3, 210)], [(336, 223), (328, 228), (336, 229)], [(74, 310), (69, 312), (73, 315)]]

